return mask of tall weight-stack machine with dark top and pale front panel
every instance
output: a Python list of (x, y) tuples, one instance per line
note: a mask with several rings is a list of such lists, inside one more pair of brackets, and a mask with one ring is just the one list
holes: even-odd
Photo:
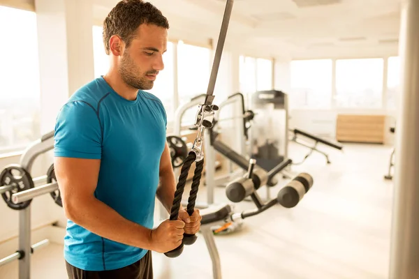
[(255, 114), (250, 133), (251, 158), (270, 171), (288, 158), (288, 95), (283, 91), (256, 91), (251, 96)]

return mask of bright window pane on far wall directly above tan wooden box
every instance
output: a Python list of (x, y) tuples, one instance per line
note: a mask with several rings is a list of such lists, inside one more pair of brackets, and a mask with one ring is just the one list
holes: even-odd
[(383, 93), (383, 59), (336, 61), (338, 107), (379, 108)]

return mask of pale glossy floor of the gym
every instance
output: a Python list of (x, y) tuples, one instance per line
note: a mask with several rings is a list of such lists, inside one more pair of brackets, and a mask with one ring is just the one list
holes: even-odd
[[(291, 144), (291, 158), (307, 151)], [(292, 172), (308, 172), (314, 186), (293, 209), (274, 206), (244, 220), (242, 230), (216, 236), (223, 278), (384, 279), (388, 278), (392, 182), (383, 179), (391, 146), (345, 144), (344, 153), (324, 148)], [(284, 183), (272, 188), (272, 197)], [(205, 202), (205, 187), (198, 195)], [(228, 202), (216, 188), (216, 202)], [(259, 193), (265, 196), (265, 189)], [(251, 202), (236, 204), (251, 209)], [(66, 278), (62, 246), (52, 243), (32, 257), (31, 278)], [(212, 262), (199, 235), (182, 256), (153, 253), (155, 278), (212, 278)], [(17, 262), (0, 278), (17, 279)]]

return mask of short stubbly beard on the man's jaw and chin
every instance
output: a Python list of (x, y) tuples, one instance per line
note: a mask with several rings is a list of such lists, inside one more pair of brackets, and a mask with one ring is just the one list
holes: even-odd
[(127, 52), (124, 53), (122, 58), (121, 65), (119, 66), (119, 75), (121, 75), (122, 80), (129, 86), (139, 89), (139, 90), (149, 90), (153, 88), (154, 81), (148, 80), (145, 75), (155, 74), (155, 70), (151, 70), (144, 75), (141, 75), (141, 71), (138, 70), (138, 67), (135, 66), (133, 59)]

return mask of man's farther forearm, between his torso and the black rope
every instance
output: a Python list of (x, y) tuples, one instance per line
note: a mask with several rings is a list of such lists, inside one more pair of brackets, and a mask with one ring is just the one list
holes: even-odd
[[(172, 169), (163, 171), (160, 174), (160, 183), (157, 188), (157, 198), (170, 213), (173, 205), (173, 199), (175, 199), (176, 192), (176, 179)], [(182, 205), (181, 205), (182, 207)]]

